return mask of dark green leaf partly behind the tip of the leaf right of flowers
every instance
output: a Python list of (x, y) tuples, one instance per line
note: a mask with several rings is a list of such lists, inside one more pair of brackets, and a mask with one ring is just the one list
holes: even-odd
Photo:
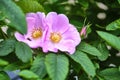
[(109, 51), (108, 51), (106, 45), (104, 43), (100, 43), (98, 45), (98, 49), (102, 53), (101, 56), (98, 56), (98, 59), (101, 61), (105, 61), (109, 56)]

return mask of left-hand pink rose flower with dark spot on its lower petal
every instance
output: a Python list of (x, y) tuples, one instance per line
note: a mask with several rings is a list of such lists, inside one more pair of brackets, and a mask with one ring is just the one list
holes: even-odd
[(27, 33), (15, 33), (18, 41), (28, 44), (31, 48), (42, 47), (47, 32), (45, 26), (45, 14), (41, 12), (29, 13), (26, 15)]

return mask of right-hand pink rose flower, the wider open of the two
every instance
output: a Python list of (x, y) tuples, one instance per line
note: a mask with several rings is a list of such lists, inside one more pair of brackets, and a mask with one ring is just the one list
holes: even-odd
[(60, 50), (73, 54), (81, 38), (77, 29), (69, 23), (68, 18), (64, 14), (50, 12), (46, 16), (46, 23), (49, 29), (43, 51), (58, 52)]

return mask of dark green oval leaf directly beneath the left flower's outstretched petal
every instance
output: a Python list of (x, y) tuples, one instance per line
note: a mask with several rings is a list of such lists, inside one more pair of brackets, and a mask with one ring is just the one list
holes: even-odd
[(17, 42), (15, 45), (15, 53), (22, 62), (28, 62), (32, 59), (32, 50), (25, 43)]

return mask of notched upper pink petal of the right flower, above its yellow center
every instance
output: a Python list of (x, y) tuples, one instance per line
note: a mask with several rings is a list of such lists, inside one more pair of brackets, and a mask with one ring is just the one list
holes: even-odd
[(55, 12), (50, 12), (46, 19), (52, 32), (63, 33), (68, 29), (69, 20), (64, 14), (57, 15)]

